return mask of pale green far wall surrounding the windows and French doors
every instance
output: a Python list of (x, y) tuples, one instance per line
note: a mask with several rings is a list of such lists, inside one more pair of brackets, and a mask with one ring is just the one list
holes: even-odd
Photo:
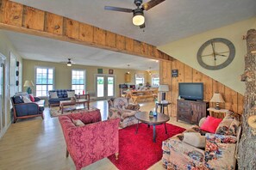
[[(67, 67), (66, 64), (58, 64), (53, 62), (42, 62), (36, 60), (28, 60), (23, 59), (23, 76), (22, 76), (22, 83), (26, 80), (32, 80), (35, 82), (35, 67), (42, 66), (42, 67), (51, 67), (55, 70), (55, 89), (68, 89), (72, 88), (72, 70), (86, 70), (86, 90), (95, 91), (95, 75), (97, 74), (97, 69), (103, 69), (103, 74), (109, 74), (109, 69), (114, 70), (114, 74), (116, 76), (116, 96), (119, 95), (119, 84), (124, 83), (124, 75), (128, 71), (127, 69), (113, 69), (113, 68), (105, 68), (105, 67), (97, 67), (97, 66), (86, 66), (86, 65), (78, 65), (72, 64), (72, 67)], [(145, 71), (136, 71), (136, 70), (129, 70), (132, 75), (132, 82), (128, 84), (134, 84), (134, 75), (136, 72), (145, 72)], [(151, 77), (147, 76), (146, 74), (146, 81), (151, 82)], [(33, 93), (35, 89), (32, 88)], [(26, 88), (23, 88), (23, 91), (26, 91)]]

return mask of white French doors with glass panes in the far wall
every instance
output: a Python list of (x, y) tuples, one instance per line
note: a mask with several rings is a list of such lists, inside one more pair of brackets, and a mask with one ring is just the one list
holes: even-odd
[(115, 96), (116, 76), (96, 75), (97, 100), (107, 100)]

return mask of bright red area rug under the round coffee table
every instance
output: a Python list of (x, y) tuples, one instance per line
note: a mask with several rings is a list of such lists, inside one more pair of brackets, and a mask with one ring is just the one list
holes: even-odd
[(147, 128), (147, 124), (139, 124), (138, 133), (135, 134), (136, 125), (119, 131), (119, 159), (116, 160), (115, 155), (109, 156), (119, 170), (142, 170), (153, 166), (162, 158), (162, 141), (185, 130), (166, 124), (168, 134), (165, 134), (165, 125), (157, 125), (156, 143), (153, 143), (153, 126)]

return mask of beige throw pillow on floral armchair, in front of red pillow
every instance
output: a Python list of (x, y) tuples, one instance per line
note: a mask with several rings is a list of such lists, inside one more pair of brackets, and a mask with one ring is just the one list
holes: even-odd
[(183, 142), (197, 148), (205, 147), (205, 137), (198, 132), (184, 132)]

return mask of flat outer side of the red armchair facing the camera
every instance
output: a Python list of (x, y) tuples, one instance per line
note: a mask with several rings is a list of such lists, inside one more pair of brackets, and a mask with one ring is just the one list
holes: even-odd
[(119, 122), (115, 118), (70, 129), (67, 150), (77, 167), (119, 152)]

